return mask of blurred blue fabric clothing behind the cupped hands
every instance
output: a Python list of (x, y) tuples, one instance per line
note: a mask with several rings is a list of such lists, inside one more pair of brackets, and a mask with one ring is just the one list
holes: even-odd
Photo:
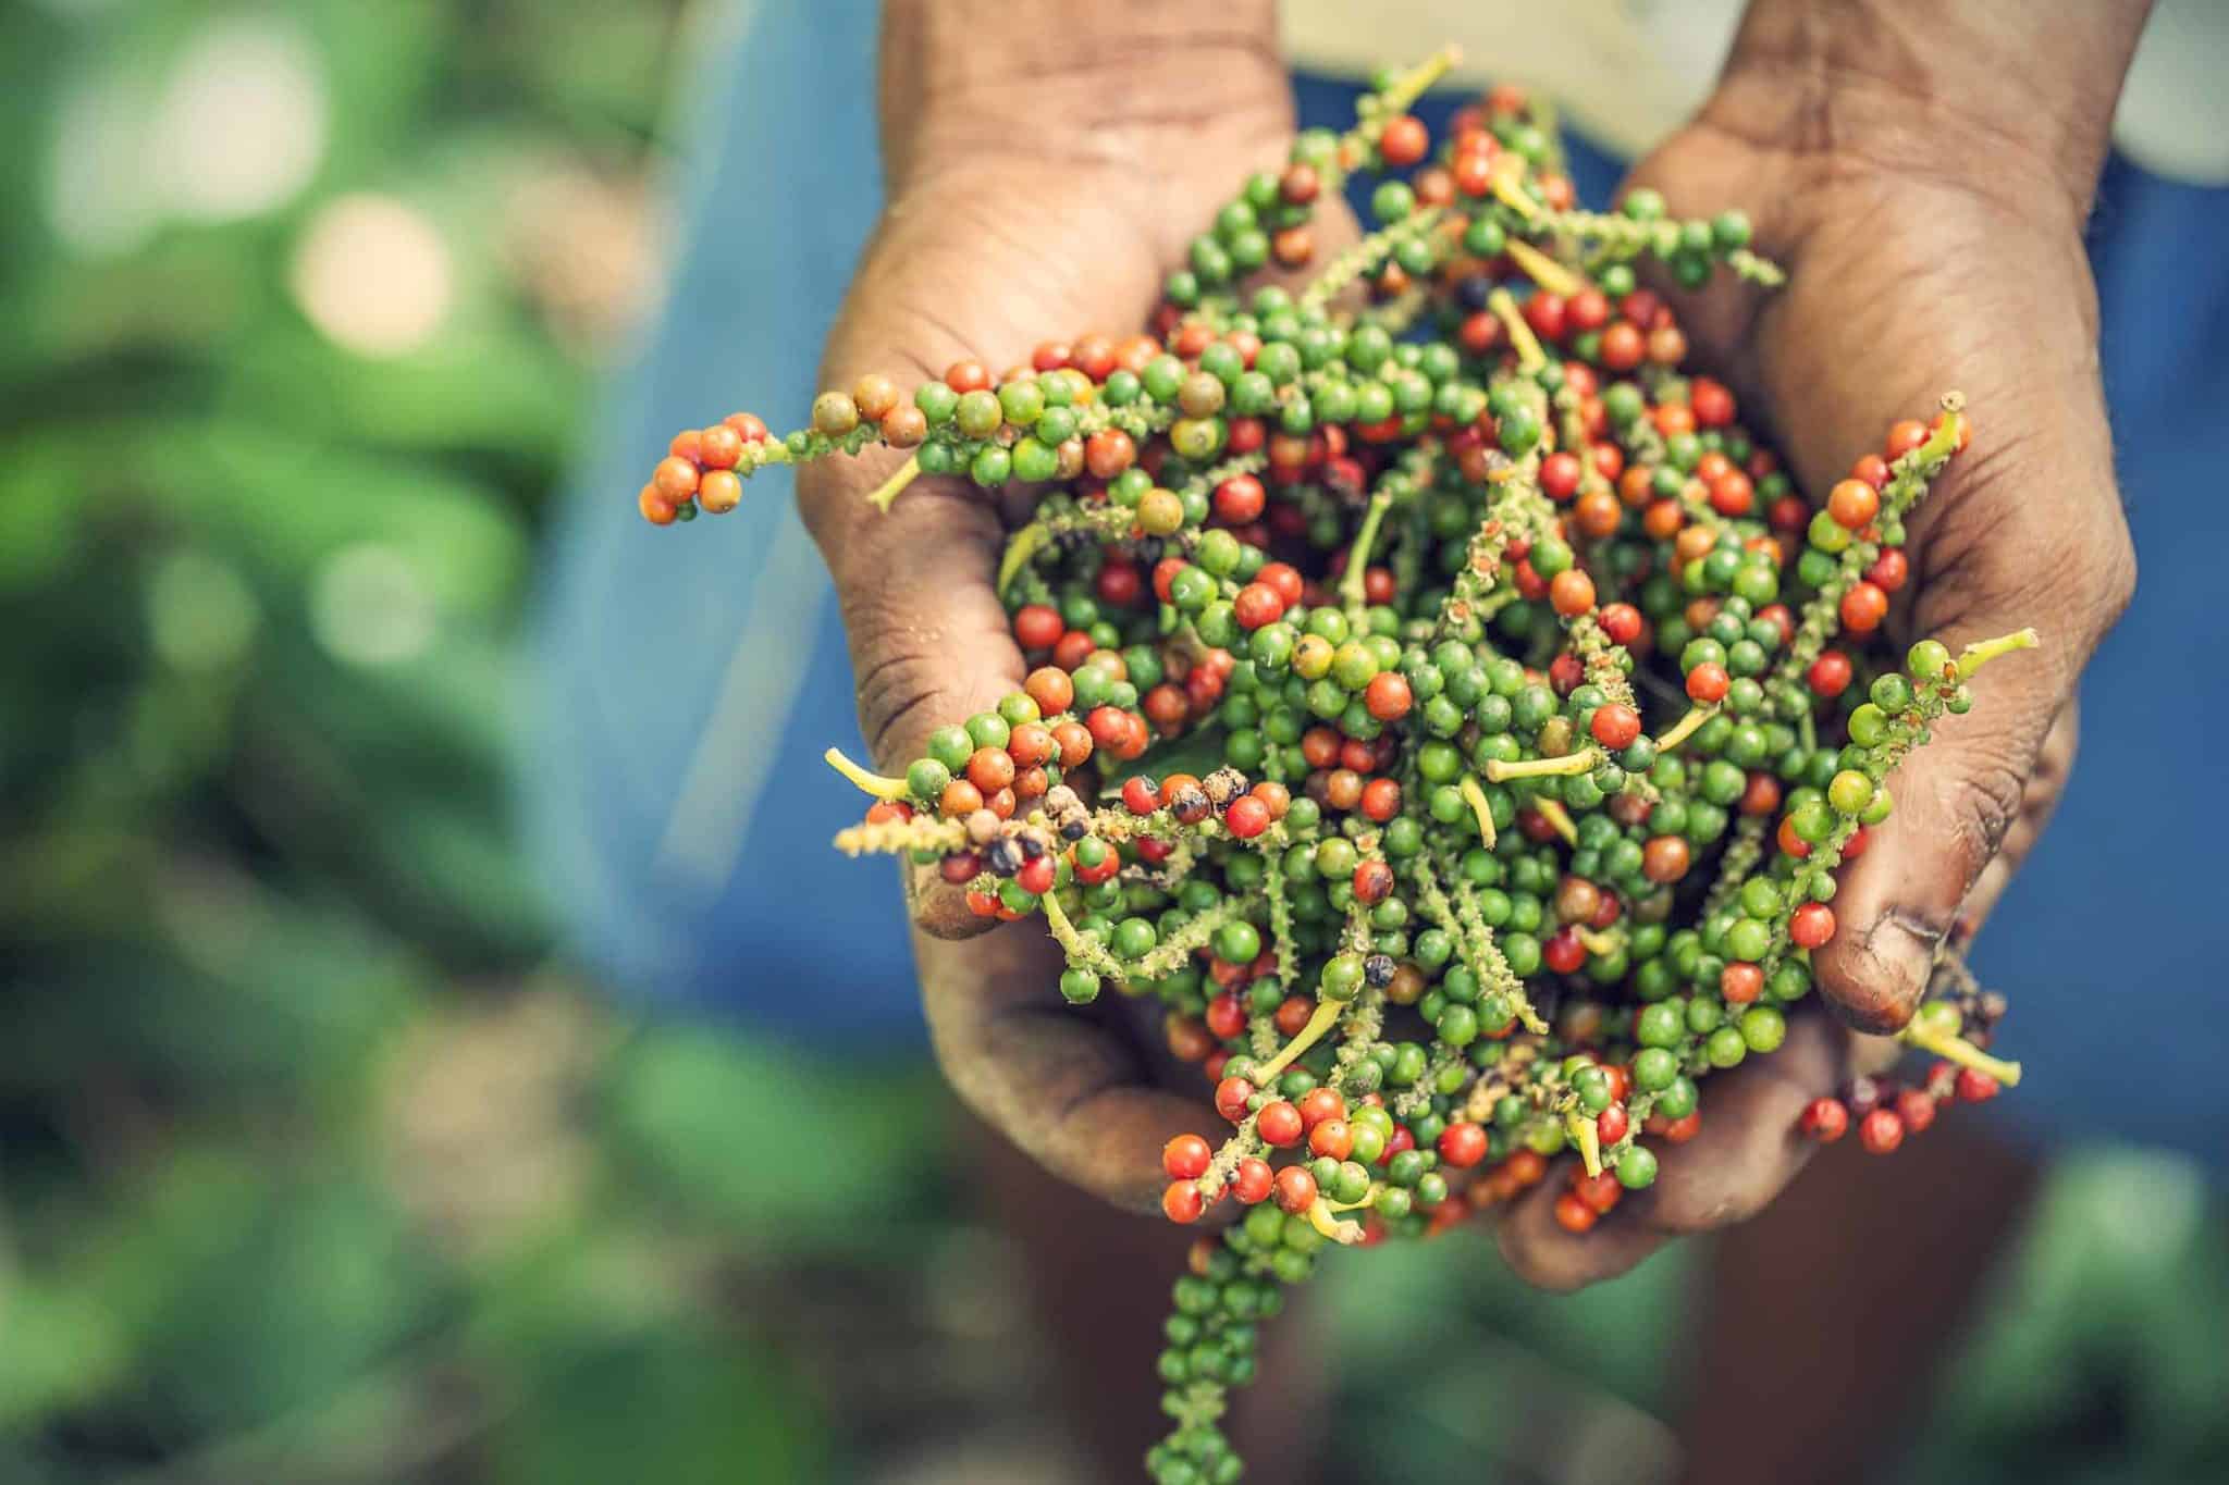
[[(805, 421), (814, 347), (878, 205), (874, 7), (776, 4), (740, 29), (698, 91), (671, 305), (613, 387), (548, 554), (528, 815), (582, 948), (620, 986), (796, 1035), (918, 1042), (896, 882), (827, 848), (858, 799), (818, 755), (858, 737), (789, 481), (760, 474), (740, 512), (687, 532), (646, 528), (629, 499), (682, 421)], [(1302, 78), (1295, 96), (1304, 125), (1340, 127), (1355, 89)], [(1620, 169), (1574, 147), (1587, 200)], [(1977, 964), (2013, 993), (2008, 1044), (2033, 1069), (2033, 1093), (2002, 1104), (2013, 1118), (2218, 1158), (2198, 1115), (2220, 1107), (2229, 915), (2200, 842), (2220, 817), (2202, 770), (2229, 686), (2202, 646), (2229, 626), (2202, 563), (2225, 534), (2229, 191), (2115, 160), (2093, 252), (2144, 579), (2086, 681), (2084, 757), (2051, 844)], [(2189, 784), (2162, 801), (2169, 770)]]

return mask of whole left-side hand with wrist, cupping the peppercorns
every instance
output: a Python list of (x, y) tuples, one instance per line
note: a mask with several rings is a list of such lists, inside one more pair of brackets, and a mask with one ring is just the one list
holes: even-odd
[[(892, 4), (883, 36), (889, 205), (829, 338), (823, 385), (885, 372), (912, 392), (961, 358), (996, 376), (1045, 338), (1143, 327), (1164, 272), (1248, 169), (1282, 165), (1291, 94), (1268, 4), (1141, 4), (1034, 42), (970, 7)], [(1103, 38), (1079, 36), (1103, 27)], [(843, 599), (860, 726), (903, 770), (929, 730), (987, 710), (1025, 663), (992, 590), (999, 508), (921, 479), (887, 514), (860, 496), (894, 454), (798, 472)], [(916, 873), (914, 953), (936, 1058), (961, 1098), (1054, 1173), (1152, 1207), (1161, 1144), (1204, 1115), (1157, 1089), (1159, 1037), (1123, 1006), (1077, 1011), (1036, 924), (987, 928)], [(1112, 997), (1110, 997), (1112, 1000)]]

